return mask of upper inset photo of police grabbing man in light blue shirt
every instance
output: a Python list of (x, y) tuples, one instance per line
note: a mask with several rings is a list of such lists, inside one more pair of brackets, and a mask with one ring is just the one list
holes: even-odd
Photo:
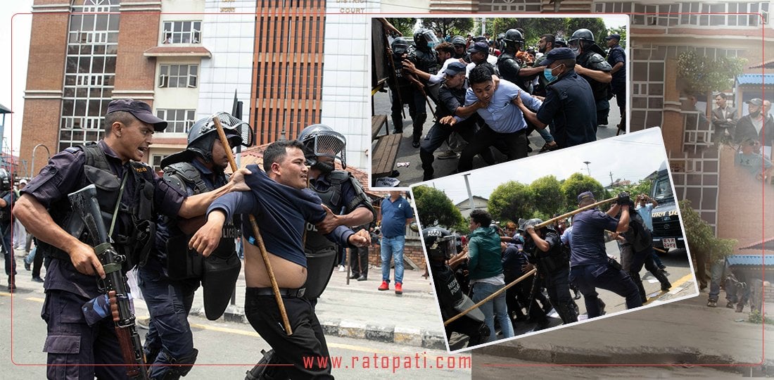
[(627, 26), (625, 15), (372, 19), (373, 186), (625, 133)]

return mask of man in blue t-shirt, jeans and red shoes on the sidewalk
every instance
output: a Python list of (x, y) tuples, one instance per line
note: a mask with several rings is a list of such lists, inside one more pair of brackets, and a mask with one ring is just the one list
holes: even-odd
[(382, 285), (389, 290), (389, 260), (395, 258), (395, 293), (403, 293), (403, 247), (406, 245), (406, 224), (414, 220), (414, 211), (401, 191), (390, 191), (382, 200)]

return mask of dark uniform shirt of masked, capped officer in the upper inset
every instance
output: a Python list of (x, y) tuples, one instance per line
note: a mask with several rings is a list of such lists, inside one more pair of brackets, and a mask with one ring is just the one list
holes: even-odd
[(548, 124), (562, 148), (597, 140), (596, 105), (591, 87), (575, 70), (568, 70), (546, 87), (537, 118)]

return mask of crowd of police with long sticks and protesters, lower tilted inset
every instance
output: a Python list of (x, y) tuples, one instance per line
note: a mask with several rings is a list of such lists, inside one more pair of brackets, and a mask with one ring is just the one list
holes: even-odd
[[(597, 289), (625, 299), (627, 309), (642, 306), (648, 297), (639, 272), (643, 265), (660, 282), (662, 292), (672, 284), (652, 245), (651, 211), (656, 200), (639, 194), (634, 200), (619, 193), (608, 211), (601, 211), (594, 194), (578, 194), (572, 224), (566, 216), (551, 221), (519, 219), (503, 228), (487, 211), (471, 211), (470, 233), (460, 236), (445, 228), (423, 231), (434, 286), (447, 337), (467, 335), (468, 346), (513, 337), (518, 324), (534, 324), (530, 331), (553, 327), (555, 311), (561, 324), (580, 317), (604, 315)], [(618, 241), (620, 262), (608, 255), (607, 241)], [(522, 276), (530, 276), (515, 285)], [(486, 300), (474, 311), (474, 303)], [(470, 301), (470, 302), (467, 302)], [(467, 311), (463, 317), (458, 314)], [(477, 317), (476, 313), (480, 313)], [(485, 328), (484, 328), (485, 327)]]

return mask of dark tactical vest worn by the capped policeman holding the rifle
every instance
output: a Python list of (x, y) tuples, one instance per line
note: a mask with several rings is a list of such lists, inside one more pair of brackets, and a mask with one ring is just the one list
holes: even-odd
[[(156, 215), (153, 213), (153, 194), (156, 184), (153, 180), (152, 169), (144, 163), (130, 162), (124, 173), (132, 176), (135, 186), (126, 187), (124, 194), (128, 196), (118, 200), (121, 191), (122, 179), (119, 179), (111, 171), (108, 159), (104, 151), (96, 143), (70, 147), (65, 149), (70, 153), (83, 151), (86, 156), (84, 163), (84, 181), (97, 187), (97, 200), (102, 214), (104, 225), (109, 228), (113, 220), (113, 213), (118, 205), (115, 231), (113, 231), (113, 245), (118, 253), (125, 255), (123, 269), (132, 269), (135, 265), (144, 265), (153, 246), (153, 238), (156, 235)], [(127, 179), (128, 180), (128, 179)], [(127, 181), (128, 182), (128, 181)], [(70, 200), (63, 198), (52, 204), (49, 214), (61, 228), (78, 240), (94, 245), (94, 241), (87, 236), (80, 217), (75, 216), (70, 208)], [(39, 241), (39, 249), (44, 255), (60, 260), (70, 260), (67, 252)]]

